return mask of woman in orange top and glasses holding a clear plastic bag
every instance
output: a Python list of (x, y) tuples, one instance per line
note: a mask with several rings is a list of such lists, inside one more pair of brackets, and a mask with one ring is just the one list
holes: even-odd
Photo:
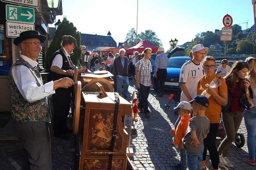
[(219, 154), (215, 146), (215, 140), (220, 123), (221, 106), (228, 103), (228, 89), (225, 79), (223, 78), (220, 78), (222, 83), (220, 83), (221, 85), (218, 88), (206, 87), (206, 84), (210, 84), (215, 77), (218, 79), (220, 76), (214, 73), (215, 59), (212, 56), (206, 56), (202, 62), (205, 75), (198, 81), (197, 95), (202, 94), (202, 92), (207, 89), (206, 92), (211, 96), (209, 97), (209, 107), (205, 111), (205, 115), (210, 121), (210, 132), (204, 139), (204, 153), (201, 169), (205, 168), (206, 152), (208, 149), (212, 168), (218, 170)]

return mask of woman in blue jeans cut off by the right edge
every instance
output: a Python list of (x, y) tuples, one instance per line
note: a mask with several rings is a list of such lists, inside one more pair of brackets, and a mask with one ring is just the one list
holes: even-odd
[(250, 81), (253, 97), (250, 109), (244, 110), (244, 124), (247, 130), (247, 147), (249, 156), (245, 156), (243, 160), (248, 164), (255, 166), (255, 150), (256, 150), (256, 59), (248, 57), (245, 59), (249, 63), (249, 71), (246, 78)]

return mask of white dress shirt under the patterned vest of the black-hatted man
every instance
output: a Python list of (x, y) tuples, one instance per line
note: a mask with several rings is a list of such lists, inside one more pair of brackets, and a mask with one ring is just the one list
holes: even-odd
[[(38, 65), (36, 61), (24, 55), (20, 55), (20, 57), (32, 65), (32, 67), (36, 67)], [(36, 85), (37, 81), (35, 76), (25, 65), (14, 65), (12, 67), (12, 77), (20, 93), (29, 103), (33, 103), (55, 93), (53, 90), (53, 81), (50, 81), (46, 84), (43, 84), (42, 81), (39, 81), (41, 86), (38, 87)]]

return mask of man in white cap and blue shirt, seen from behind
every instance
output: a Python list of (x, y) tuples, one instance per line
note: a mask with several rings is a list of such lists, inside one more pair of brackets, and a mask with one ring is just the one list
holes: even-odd
[[(156, 56), (155, 61), (155, 70), (154, 70), (154, 86), (156, 90), (156, 97), (163, 97), (164, 95), (164, 81), (167, 76), (167, 65), (168, 57), (164, 54), (164, 48), (158, 48), (158, 55)], [(160, 81), (160, 87), (159, 87)]]

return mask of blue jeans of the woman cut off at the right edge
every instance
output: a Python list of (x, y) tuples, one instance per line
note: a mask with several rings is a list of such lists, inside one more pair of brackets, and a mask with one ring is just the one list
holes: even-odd
[(256, 109), (244, 110), (244, 123), (247, 130), (247, 147), (249, 158), (255, 159), (256, 151)]

